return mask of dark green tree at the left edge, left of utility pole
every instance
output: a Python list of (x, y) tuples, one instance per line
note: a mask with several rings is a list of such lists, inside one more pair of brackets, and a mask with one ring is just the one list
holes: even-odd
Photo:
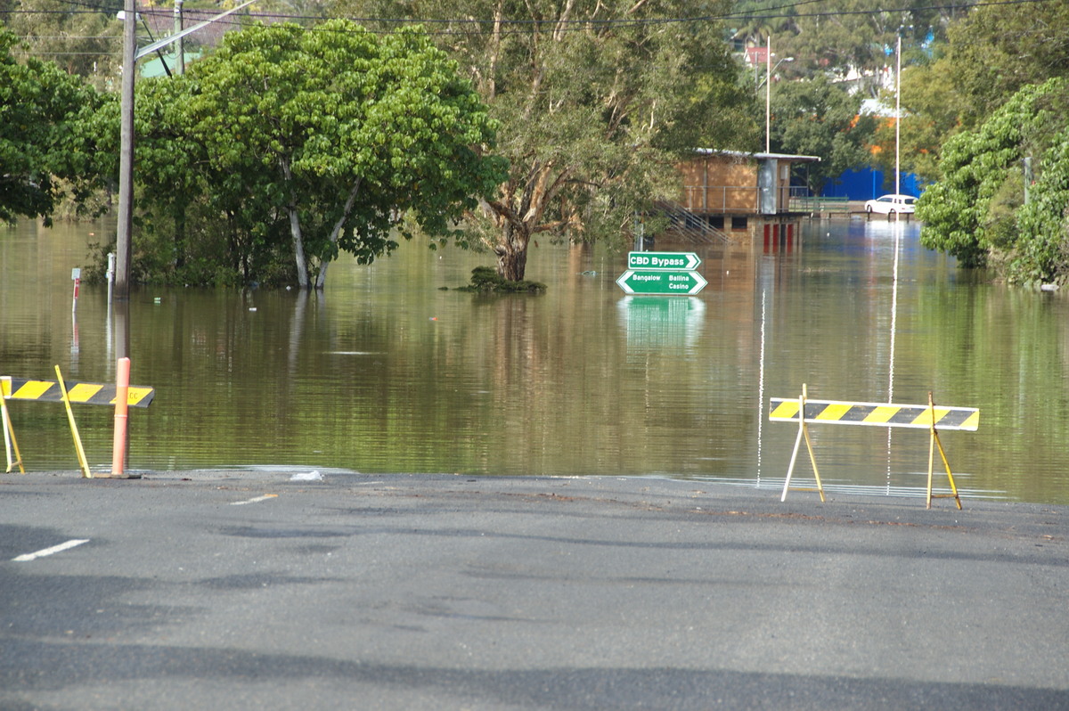
[(91, 184), (90, 156), (77, 141), (96, 92), (50, 62), (11, 56), (16, 38), (0, 30), (0, 220), (18, 216), (51, 222), (59, 181), (79, 195)]

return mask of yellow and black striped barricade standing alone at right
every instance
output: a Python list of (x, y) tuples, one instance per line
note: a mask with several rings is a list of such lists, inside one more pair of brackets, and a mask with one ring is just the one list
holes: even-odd
[[(804, 416), (800, 414), (804, 413)], [(980, 411), (975, 407), (947, 407), (935, 405), (931, 392), (928, 393), (927, 405), (899, 405), (894, 403), (843, 402), (836, 400), (809, 400), (806, 386), (802, 386), (800, 398), (772, 398), (769, 405), (769, 420), (777, 422), (797, 422), (799, 435), (794, 440), (794, 451), (787, 468), (787, 480), (784, 482), (784, 494), (779, 500), (787, 500), (787, 492), (791, 489), (791, 475), (797, 459), (802, 439), (805, 439), (809, 451), (809, 462), (812, 464), (814, 477), (820, 500), (824, 500), (824, 488), (820, 482), (820, 472), (817, 469), (817, 458), (809, 440), (809, 422), (834, 424), (867, 424), (869, 427), (899, 427), (924, 429), (929, 431), (928, 444), (928, 497), (927, 506), (931, 508), (932, 498), (954, 498), (961, 508), (961, 497), (954, 483), (954, 474), (946, 461), (943, 443), (939, 438), (939, 430), (966, 430), (975, 432), (980, 422)], [(950, 482), (950, 494), (932, 494), (932, 469), (935, 459), (935, 448), (939, 448), (946, 477)], [(812, 490), (808, 490), (812, 491)]]

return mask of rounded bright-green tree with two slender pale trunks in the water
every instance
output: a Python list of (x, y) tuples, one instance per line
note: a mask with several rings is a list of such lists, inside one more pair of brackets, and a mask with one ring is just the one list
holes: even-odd
[(418, 29), (258, 26), (228, 34), (188, 77), (207, 189), (285, 217), (301, 288), (322, 289), (340, 250), (361, 263), (389, 252), (391, 230), (410, 234), (405, 217), (455, 236), (503, 175), (485, 155), (494, 126), (478, 94)]

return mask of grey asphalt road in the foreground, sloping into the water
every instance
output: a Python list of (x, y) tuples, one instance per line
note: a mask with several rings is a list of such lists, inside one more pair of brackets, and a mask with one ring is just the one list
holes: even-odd
[(1064, 507), (307, 472), (0, 476), (0, 708), (1069, 709)]

